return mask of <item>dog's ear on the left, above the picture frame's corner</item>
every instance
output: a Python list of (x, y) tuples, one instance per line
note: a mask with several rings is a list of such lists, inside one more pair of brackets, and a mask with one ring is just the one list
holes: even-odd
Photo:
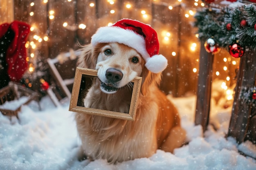
[(82, 53), (77, 61), (78, 67), (95, 69), (97, 63), (97, 56), (94, 54), (94, 48), (92, 44), (82, 46)]

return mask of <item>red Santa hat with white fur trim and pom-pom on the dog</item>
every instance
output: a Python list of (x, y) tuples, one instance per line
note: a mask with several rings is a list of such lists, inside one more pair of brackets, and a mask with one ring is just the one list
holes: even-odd
[(137, 50), (146, 61), (146, 68), (153, 73), (164, 71), (167, 59), (158, 54), (159, 42), (156, 31), (148, 24), (122, 19), (112, 26), (100, 27), (92, 35), (92, 46), (97, 43), (118, 42)]

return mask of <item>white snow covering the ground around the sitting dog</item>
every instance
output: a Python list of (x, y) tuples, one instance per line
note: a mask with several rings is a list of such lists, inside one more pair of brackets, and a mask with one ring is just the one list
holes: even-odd
[(256, 170), (255, 159), (238, 153), (256, 157), (256, 146), (249, 141), (238, 146), (233, 138), (225, 138), (231, 107), (212, 104), (210, 122), (219, 130), (209, 126), (203, 136), (202, 127), (193, 123), (195, 96), (168, 97), (187, 131), (188, 144), (174, 154), (157, 150), (152, 157), (114, 165), (102, 159), (78, 161), (74, 113), (68, 111), (68, 103), (56, 108), (44, 97), (41, 111), (36, 102), (22, 106), (20, 120), (0, 114), (0, 170)]

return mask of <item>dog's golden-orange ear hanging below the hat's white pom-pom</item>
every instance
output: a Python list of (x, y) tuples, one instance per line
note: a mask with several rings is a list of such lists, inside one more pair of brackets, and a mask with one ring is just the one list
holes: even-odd
[(152, 73), (148, 71), (148, 69), (143, 69), (141, 73), (142, 82), (141, 82), (141, 93), (142, 95), (146, 95), (148, 93), (148, 88), (151, 85), (159, 86), (161, 82), (161, 73)]

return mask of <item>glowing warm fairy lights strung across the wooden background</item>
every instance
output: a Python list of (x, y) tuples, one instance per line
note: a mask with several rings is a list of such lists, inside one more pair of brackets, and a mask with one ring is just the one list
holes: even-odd
[[(49, 1), (50, 0), (42, 0), (43, 4), (47, 4)], [(74, 0), (66, 0), (66, 1), (67, 2), (72, 2)], [(115, 2), (117, 2), (117, 0), (106, 0), (106, 1), (110, 5), (109, 13), (110, 14), (116, 13), (117, 9), (111, 9), (111, 5), (115, 4)], [(133, 7), (134, 4), (132, 4), (130, 2), (129, 1), (124, 2), (124, 7), (127, 8), (127, 9), (134, 8)], [(162, 5), (166, 6), (166, 8), (168, 8), (169, 10), (173, 10), (175, 7), (181, 5), (185, 9), (184, 10), (185, 11), (184, 17), (191, 19), (191, 21), (193, 20), (193, 16), (196, 13), (196, 9), (199, 8), (199, 7), (204, 7), (205, 6), (205, 4), (204, 4), (204, 2), (202, 2), (202, 0), (194, 0), (193, 7), (187, 7), (186, 2), (184, 0), (177, 0), (177, 1), (173, 2), (172, 4), (162, 2), (161, 0), (152, 0), (152, 2), (155, 3), (155, 4), (162, 4)], [(34, 5), (38, 5), (38, 4), (35, 4), (35, 2), (30, 3), (31, 7), (33, 7)], [(87, 5), (89, 5), (90, 8), (94, 8), (96, 6), (96, 4), (94, 2), (89, 2)], [(31, 8), (31, 9), (33, 9), (33, 8)], [(29, 15), (31, 17), (33, 17), (35, 12), (36, 11), (29, 11)], [(141, 14), (141, 17), (144, 18), (145, 20), (147, 18), (150, 18), (151, 14), (148, 13), (145, 9), (141, 9), (141, 11), (139, 11), (139, 12)], [(54, 9), (49, 9), (48, 17), (49, 17), (50, 21), (53, 21), (55, 19), (55, 15), (56, 15), (55, 10)], [(48, 41), (50, 41), (50, 39), (49, 39), (49, 36), (48, 36), (49, 30), (47, 30), (46, 33), (42, 33), (40, 31), (40, 28), (38, 28), (35, 23), (29, 23), (29, 24), (31, 25), (30, 36), (32, 38), (30, 38), (29, 39), (30, 41), (28, 41), (26, 43), (26, 47), (29, 49), (29, 56), (27, 57), (27, 61), (29, 62), (29, 72), (32, 73), (32, 72), (35, 71), (35, 66), (33, 64), (33, 60), (36, 60), (35, 59), (36, 51), (39, 50), (40, 43), (48, 42)], [(112, 24), (113, 24), (112, 22), (109, 22), (108, 26), (110, 26)], [(76, 31), (77, 29), (86, 29), (86, 23), (79, 23), (77, 25), (76, 24), (75, 25), (70, 25), (68, 23), (68, 21), (63, 21), (62, 26), (63, 26), (63, 28), (71, 30), (71, 31)], [(172, 35), (171, 32), (162, 30), (162, 32), (158, 33), (158, 34), (160, 35), (159, 40), (162, 40), (162, 43), (164, 43), (164, 44), (170, 43), (171, 35)], [(195, 36), (198, 38), (197, 34)], [(199, 43), (199, 41), (190, 43), (189, 50), (192, 53), (199, 50), (198, 43)], [(173, 57), (175, 57), (177, 55), (176, 51), (171, 51), (170, 53), (171, 53), (171, 56), (173, 56)], [(237, 64), (236, 61), (231, 61), (231, 60), (232, 59), (229, 56), (223, 58), (223, 62), (225, 62), (225, 63), (231, 62), (234, 65)], [(196, 60), (196, 62), (198, 62), (198, 59)], [(227, 71), (227, 72), (229, 71), (228, 70), (228, 64), (227, 64), (227, 66), (223, 67), (223, 70)], [(193, 73), (197, 74), (198, 73), (198, 68), (194, 67), (192, 71), (193, 71)], [(216, 76), (219, 76), (219, 75), (221, 75), (221, 71), (216, 71), (215, 74), (216, 74)], [(229, 76), (227, 76), (225, 81), (229, 81), (230, 79), (231, 78)], [(223, 82), (222, 88), (227, 90), (227, 83)]]

